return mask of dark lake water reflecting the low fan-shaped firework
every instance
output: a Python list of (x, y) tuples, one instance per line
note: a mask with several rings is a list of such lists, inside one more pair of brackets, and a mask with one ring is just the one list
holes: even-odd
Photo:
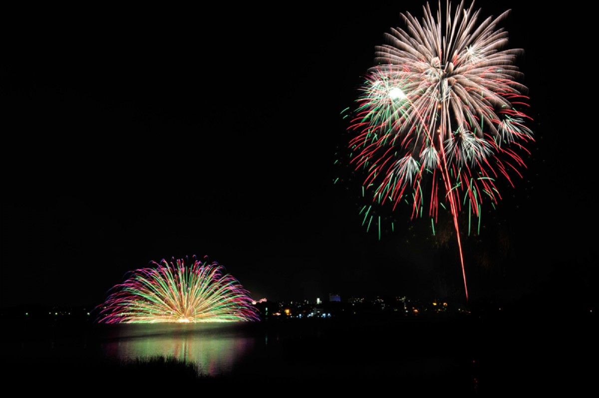
[(594, 377), (580, 362), (587, 355), (597, 360), (592, 329), (586, 325), (576, 341), (570, 333), (556, 340), (558, 326), (549, 320), (450, 315), (116, 325), (21, 320), (2, 324), (1, 354), (13, 373), (27, 373), (28, 379), (67, 363), (72, 368), (89, 361), (172, 357), (193, 363), (201, 376), (248, 386), (268, 382), (297, 389), (319, 382), (332, 392), (394, 388), (493, 396), (553, 391), (576, 378), (571, 391)]

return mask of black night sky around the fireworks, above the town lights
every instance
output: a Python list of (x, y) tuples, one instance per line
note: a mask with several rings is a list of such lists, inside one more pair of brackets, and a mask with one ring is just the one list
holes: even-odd
[[(423, 3), (316, 4), (7, 10), (1, 305), (96, 305), (127, 271), (193, 255), (255, 299), (462, 297), (451, 227), (431, 236), (403, 209), (379, 240), (335, 164), (374, 46)], [(477, 4), (512, 9), (501, 26), (525, 50), (536, 142), (524, 178), (463, 238), (470, 297), (591, 291), (584, 13)]]

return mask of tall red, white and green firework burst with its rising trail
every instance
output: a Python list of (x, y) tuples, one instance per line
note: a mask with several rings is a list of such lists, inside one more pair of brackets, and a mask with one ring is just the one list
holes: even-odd
[(374, 203), (395, 209), (406, 200), (412, 218), (426, 211), (433, 226), (439, 208), (449, 209), (468, 300), (458, 215), (480, 217), (483, 200), (495, 206), (497, 181), (521, 177), (517, 151), (528, 153), (534, 139), (519, 110), (528, 100), (514, 66), (522, 50), (503, 49), (507, 32), (498, 28), (509, 10), (477, 25), (474, 2), (452, 15), (448, 1), (444, 22), (438, 7), (435, 18), (427, 3), (421, 23), (401, 14), (406, 29), (376, 47), (350, 119), (350, 162), (365, 172)]

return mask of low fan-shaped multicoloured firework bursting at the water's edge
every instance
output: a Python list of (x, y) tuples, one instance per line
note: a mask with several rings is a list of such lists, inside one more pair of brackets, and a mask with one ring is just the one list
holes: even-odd
[(218, 263), (150, 262), (131, 272), (99, 306), (99, 323), (257, 321), (249, 292)]

